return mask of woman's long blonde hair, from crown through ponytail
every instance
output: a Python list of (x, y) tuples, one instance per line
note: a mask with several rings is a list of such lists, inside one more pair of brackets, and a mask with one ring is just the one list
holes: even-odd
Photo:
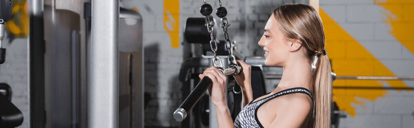
[(286, 38), (302, 42), (309, 63), (314, 56), (318, 56), (312, 76), (315, 115), (308, 127), (331, 127), (331, 64), (324, 52), (325, 35), (319, 14), (308, 5), (287, 4), (276, 8), (273, 15)]

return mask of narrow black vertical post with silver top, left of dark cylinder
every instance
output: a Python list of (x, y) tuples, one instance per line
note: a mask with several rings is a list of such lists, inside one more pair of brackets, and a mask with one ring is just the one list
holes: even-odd
[[(29, 127), (46, 127), (45, 110), (45, 42), (43, 0), (28, 1), (30, 25), (28, 37)], [(26, 121), (25, 121), (26, 122)]]

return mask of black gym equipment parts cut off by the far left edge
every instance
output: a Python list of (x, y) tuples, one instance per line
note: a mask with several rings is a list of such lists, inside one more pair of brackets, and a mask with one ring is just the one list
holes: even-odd
[[(0, 1), (0, 65), (6, 61), (6, 48), (2, 46), (4, 25), (12, 17), (12, 1)], [(0, 127), (18, 127), (23, 122), (23, 114), (11, 102), (12, 89), (6, 83), (0, 83)]]

